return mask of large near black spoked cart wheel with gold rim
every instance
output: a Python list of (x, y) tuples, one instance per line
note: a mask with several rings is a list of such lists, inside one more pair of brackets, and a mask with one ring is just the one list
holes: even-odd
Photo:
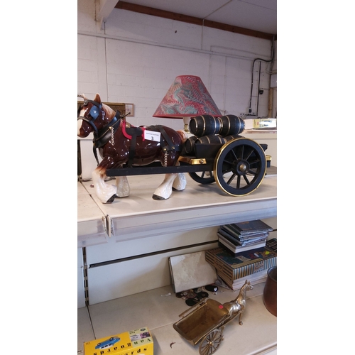
[(224, 144), (214, 160), (214, 178), (232, 196), (244, 196), (256, 190), (265, 173), (263, 148), (249, 138), (236, 138)]

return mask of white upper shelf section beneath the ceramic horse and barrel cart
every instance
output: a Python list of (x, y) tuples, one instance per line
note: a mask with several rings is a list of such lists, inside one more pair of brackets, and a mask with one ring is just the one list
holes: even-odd
[[(216, 183), (200, 185), (187, 175), (184, 191), (164, 201), (153, 200), (163, 175), (129, 176), (131, 195), (102, 204), (91, 182), (82, 182), (107, 218), (107, 232), (116, 241), (200, 229), (277, 215), (276, 175), (266, 175), (261, 185), (242, 197), (226, 195)], [(110, 183), (114, 184), (114, 180)]]

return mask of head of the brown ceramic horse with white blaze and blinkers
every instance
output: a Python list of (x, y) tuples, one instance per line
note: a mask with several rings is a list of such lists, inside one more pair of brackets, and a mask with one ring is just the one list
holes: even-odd
[(99, 129), (107, 124), (107, 120), (111, 119), (108, 117), (111, 114), (108, 111), (109, 107), (102, 104), (99, 94), (96, 94), (94, 100), (87, 99), (84, 94), (77, 95), (77, 97), (84, 99), (83, 104), (77, 110), (77, 135), (84, 138), (92, 131), (98, 133)]

